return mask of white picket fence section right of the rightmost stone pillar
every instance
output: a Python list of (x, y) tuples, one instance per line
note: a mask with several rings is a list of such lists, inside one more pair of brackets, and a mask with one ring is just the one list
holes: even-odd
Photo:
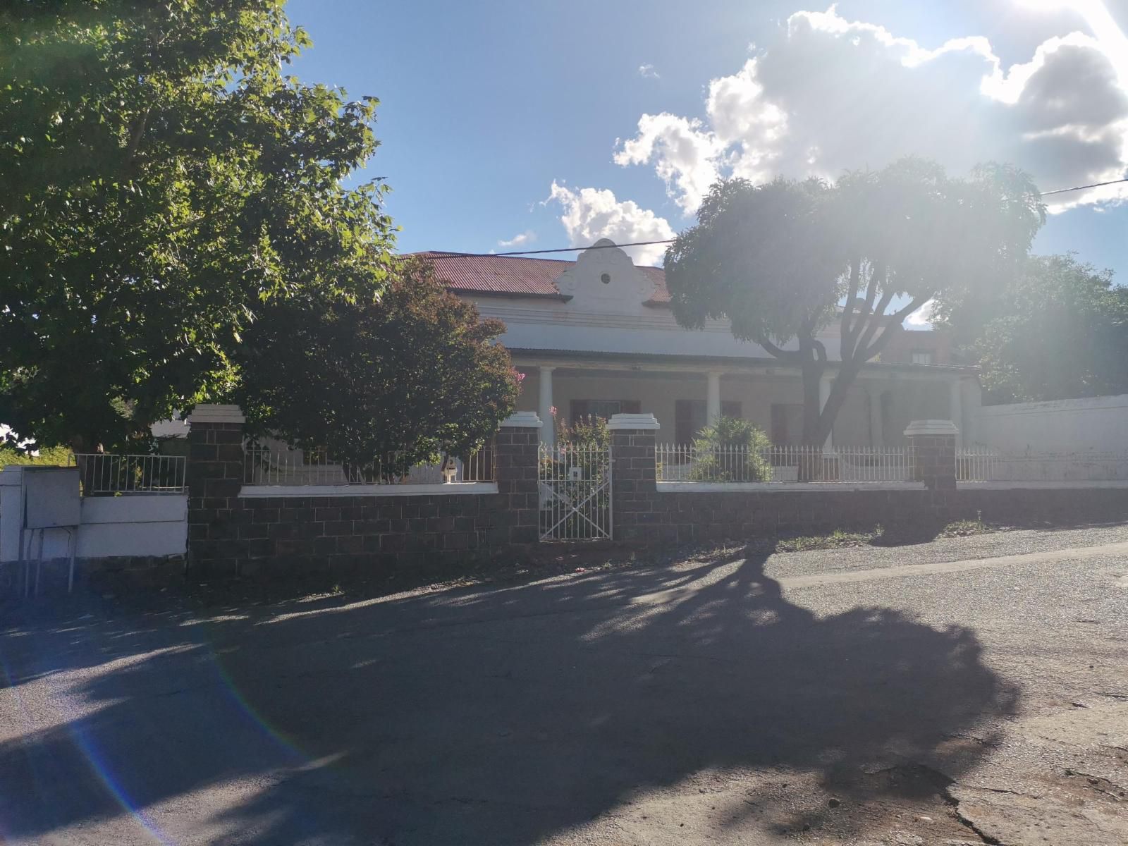
[(1128, 451), (1003, 452), (990, 447), (957, 450), (957, 482), (1122, 482)]

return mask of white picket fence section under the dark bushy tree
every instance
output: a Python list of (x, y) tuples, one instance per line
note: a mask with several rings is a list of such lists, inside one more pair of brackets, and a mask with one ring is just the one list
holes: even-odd
[[(466, 459), (455, 458), (452, 482), (493, 482), (493, 447), (486, 444)], [(438, 485), (446, 481), (442, 462), (411, 465), (398, 453), (364, 465), (332, 460), (325, 452), (285, 447), (247, 447), (246, 485)]]

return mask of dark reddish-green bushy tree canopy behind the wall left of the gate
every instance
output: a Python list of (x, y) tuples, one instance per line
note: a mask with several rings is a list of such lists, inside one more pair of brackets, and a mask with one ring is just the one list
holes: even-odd
[(443, 452), (466, 457), (513, 411), (519, 379), (491, 343), (504, 328), (405, 259), (376, 303), (273, 302), (240, 347), (237, 397), (252, 432), (373, 478), (405, 473)]

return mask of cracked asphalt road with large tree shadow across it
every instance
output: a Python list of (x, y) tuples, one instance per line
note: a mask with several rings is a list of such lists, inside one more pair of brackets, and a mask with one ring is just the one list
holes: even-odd
[(7, 614), (5, 843), (1128, 843), (1126, 527)]

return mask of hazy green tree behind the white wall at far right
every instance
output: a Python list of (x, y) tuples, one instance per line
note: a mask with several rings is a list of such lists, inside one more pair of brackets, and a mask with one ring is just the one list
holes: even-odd
[(949, 297), (934, 318), (982, 368), (989, 403), (1128, 391), (1128, 289), (1073, 255), (1032, 256), (1010, 284)]

